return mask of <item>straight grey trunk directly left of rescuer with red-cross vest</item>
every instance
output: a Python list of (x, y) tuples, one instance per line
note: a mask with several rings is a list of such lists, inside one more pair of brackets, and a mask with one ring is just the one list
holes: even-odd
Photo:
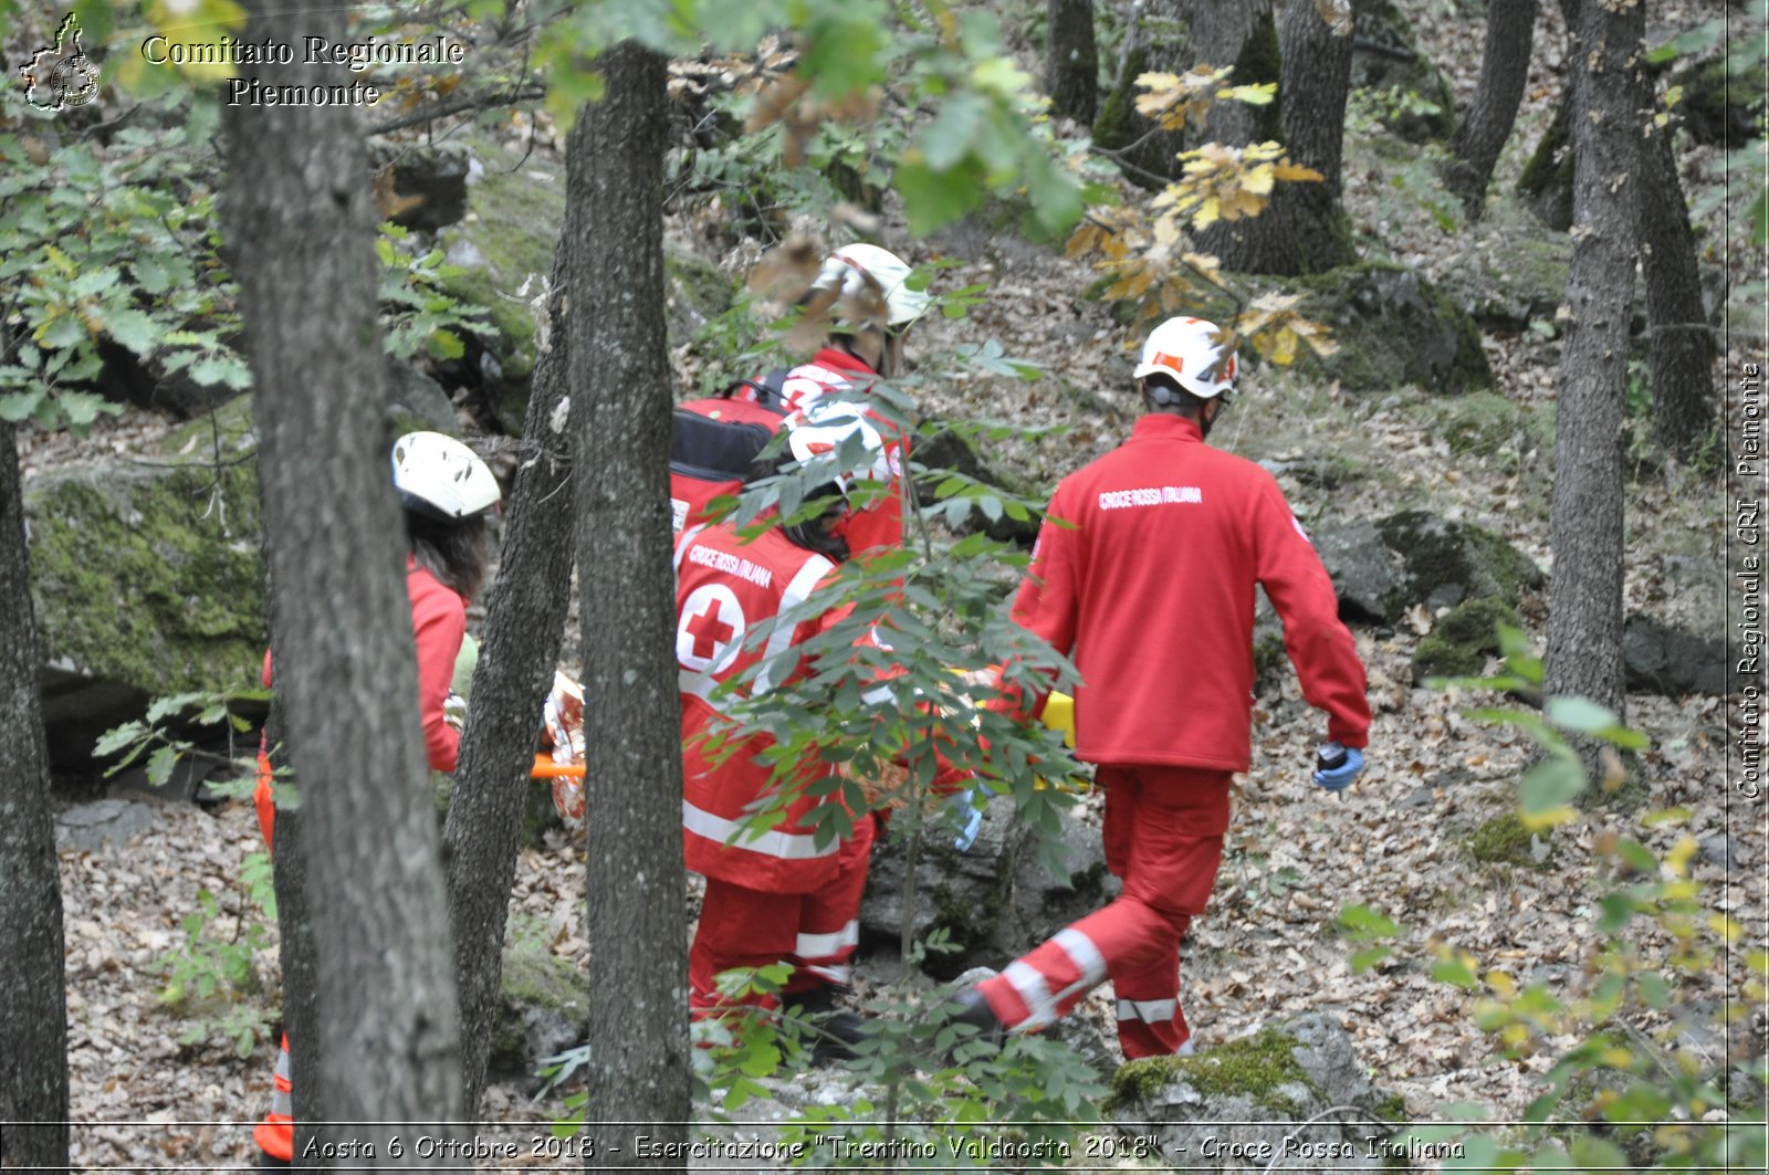
[[(688, 920), (663, 343), (663, 60), (623, 42), (566, 154), (589, 835), (589, 1122), (688, 1140)], [(586, 1166), (635, 1161), (605, 1143)], [(655, 1166), (685, 1168), (683, 1159)]]

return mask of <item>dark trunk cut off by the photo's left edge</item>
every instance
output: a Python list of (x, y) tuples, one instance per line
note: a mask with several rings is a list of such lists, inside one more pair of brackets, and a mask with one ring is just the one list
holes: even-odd
[[(5, 349), (0, 324), (0, 350)], [(0, 421), (0, 1166), (67, 1170), (67, 998), (23, 481)]]

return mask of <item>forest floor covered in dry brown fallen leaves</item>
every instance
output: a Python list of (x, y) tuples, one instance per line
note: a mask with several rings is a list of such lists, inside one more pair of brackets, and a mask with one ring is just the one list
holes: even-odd
[[(1481, 57), (1479, 19), (1440, 12), (1461, 5), (1431, 7), (1438, 14), (1421, 21), (1421, 34), (1433, 58), (1449, 64), (1458, 99), (1465, 101)], [(1718, 4), (1684, 7), (1688, 16), (1718, 11)], [(1564, 39), (1557, 5), (1541, 5), (1537, 37), (1520, 131), (1495, 182), (1504, 193), (1512, 189), (1558, 94)], [(1502, 234), (1512, 223), (1507, 218), (1520, 216), (1509, 195), (1498, 196), (1479, 227), (1467, 225), (1459, 209), (1451, 211), (1445, 227), (1444, 209), (1452, 202), (1422, 179), (1426, 163), (1412, 170), (1394, 165), (1378, 150), (1383, 131), (1373, 117), (1353, 111), (1353, 119), (1362, 122), (1348, 134), (1346, 205), (1366, 255), (1440, 278), (1481, 250), (1504, 246)], [(1714, 152), (1696, 150), (1684, 175), (1698, 205), (1728, 198), (1718, 186)], [(1709, 223), (1718, 219), (1714, 212)], [(679, 225), (676, 230), (686, 232)], [(923, 407), (1065, 425), (1061, 435), (1015, 453), (1022, 476), (1044, 483), (1116, 444), (1136, 416), (1127, 350), (1134, 340), (1109, 308), (1079, 297), (1095, 278), (1086, 262), (1007, 235), (946, 234), (934, 244), (957, 262), (941, 281), (987, 283), (989, 301), (966, 319), (918, 327), (913, 342), (915, 354), (923, 356), (922, 372), (941, 370), (934, 356), (943, 350), (996, 338), (1007, 354), (1044, 368), (1044, 377), (1030, 384), (992, 377), (953, 384), (936, 375), (918, 391)], [(1709, 251), (1714, 260), (1725, 255), (1718, 232), (1709, 237)], [(736, 271), (741, 258), (715, 260)], [(1245, 380), (1212, 442), (1256, 460), (1318, 453), (1343, 458), (1355, 476), (1332, 490), (1283, 480), (1304, 520), (1353, 520), (1424, 506), (1498, 531), (1548, 570), (1550, 453), (1541, 439), (1551, 430), (1544, 434), (1530, 419), (1551, 411), (1557, 343), (1520, 331), (1488, 334), (1484, 345), (1495, 391), (1511, 407), (1481, 449), (1452, 451), (1444, 434), (1458, 414), (1489, 411), (1491, 396), (1474, 407), (1412, 388), (1357, 398), (1321, 386), (1306, 370), (1270, 368)], [(1762, 361), (1760, 345), (1760, 338), (1750, 343), (1757, 354), (1735, 345), (1728, 363)], [(692, 356), (678, 359), (692, 366)], [(23, 460), (27, 472), (35, 472), (92, 448), (127, 451), (156, 430), (150, 418), (131, 414), (78, 442), (27, 432)], [(1702, 584), (1691, 588), (1679, 579), (1679, 568), (1691, 559), (1714, 566), (1723, 559), (1721, 487), (1716, 478), (1650, 460), (1645, 446), (1635, 451), (1626, 603), (1677, 621), (1707, 607)], [(1544, 602), (1527, 602), (1523, 616), (1541, 641)], [(1435, 947), (1468, 950), (1482, 970), (1497, 968), (1520, 982), (1583, 989), (1590, 982), (1589, 927), (1613, 869), (1599, 848), (1615, 833), (1638, 837), (1659, 855), (1684, 833), (1696, 837), (1702, 848), (1691, 876), (1707, 887), (1712, 906), (1746, 927), (1748, 945), (1762, 947), (1769, 913), (1762, 887), (1739, 881), (1762, 878), (1769, 837), (1762, 807), (1728, 803), (1723, 701), (1635, 695), (1627, 718), (1652, 738), (1652, 750), (1638, 763), (1643, 803), (1627, 812), (1601, 805), (1581, 812), (1553, 832), (1541, 862), (1477, 862), (1470, 837), (1512, 810), (1530, 745), (1465, 717), (1472, 699), (1413, 685), (1410, 655), (1431, 621), (1415, 611), (1394, 630), (1355, 630), (1376, 720), (1369, 770), (1344, 796), (1320, 793), (1307, 780), (1321, 724), (1295, 681), (1258, 706), (1254, 764), (1238, 789), (1215, 897), (1185, 947), (1185, 1009), (1201, 1048), (1293, 1012), (1329, 1012), (1352, 1032), (1375, 1081), (1399, 1092), (1410, 1115), (1433, 1117), (1445, 1102), (1481, 1102), (1493, 1117), (1511, 1118), (1541, 1090), (1553, 1049), (1504, 1056), (1474, 1026), (1472, 996), (1429, 977)], [(1673, 807), (1689, 810), (1686, 823), (1643, 825), (1647, 812)], [(249, 1124), (267, 1106), (274, 1042), (260, 1041), (246, 1058), (219, 1037), (180, 1044), (191, 1021), (157, 1002), (165, 975), (156, 966), (182, 943), (180, 924), (198, 910), (202, 892), (219, 899), (211, 931), (221, 938), (235, 933), (242, 906), (239, 867), (258, 849), (249, 805), (230, 803), (214, 810), (156, 805), (152, 825), (127, 846), (62, 853), (73, 1113), (90, 1124), (74, 1131), (76, 1164), (133, 1170), (251, 1161)], [(584, 901), (580, 853), (563, 835), (524, 849), (515, 908), (555, 954), (577, 963), (589, 950), (582, 938)], [(1394, 956), (1362, 975), (1352, 971), (1352, 947), (1336, 931), (1339, 910), (1353, 904), (1382, 910), (1403, 927)], [(1672, 943), (1645, 934), (1636, 948), (1661, 959)], [(258, 952), (257, 970), (264, 991), (251, 1000), (269, 1018), (274, 938)], [(1711, 1005), (1737, 998), (1735, 980), (1716, 966), (1691, 977), (1689, 998)], [(1097, 991), (1084, 1007), (1100, 1039), (1111, 1041), (1107, 991)], [(1114, 1060), (1114, 1046), (1104, 1048)], [(839, 1087), (842, 1078), (816, 1081)], [(543, 1124), (559, 1110), (555, 1102), (532, 1102), (529, 1087), (501, 1085), (490, 1092), (485, 1113)], [(525, 1148), (536, 1129), (511, 1125), (506, 1136)], [(536, 1164), (548, 1163), (540, 1157)]]

